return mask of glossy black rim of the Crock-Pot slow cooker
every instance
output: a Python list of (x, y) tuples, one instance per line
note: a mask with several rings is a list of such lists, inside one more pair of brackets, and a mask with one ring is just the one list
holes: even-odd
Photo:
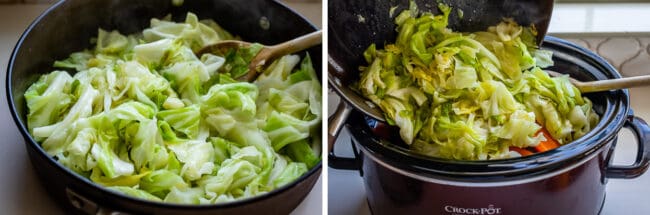
[[(608, 77), (620, 78), (621, 75), (605, 59), (586, 48), (577, 46), (569, 41), (546, 36), (543, 48), (562, 49), (573, 56), (582, 55), (589, 63), (604, 71)], [(593, 74), (592, 74), (593, 75)], [(615, 139), (618, 130), (623, 126), (630, 113), (629, 94), (627, 90), (614, 90), (607, 93), (608, 99), (604, 113), (596, 127), (585, 136), (560, 148), (536, 153), (531, 156), (489, 160), (489, 161), (458, 161), (430, 157), (412, 153), (400, 146), (382, 140), (368, 126), (350, 125), (351, 135), (372, 157), (401, 170), (430, 177), (453, 179), (467, 182), (490, 182), (518, 180), (531, 176), (544, 175), (571, 164), (575, 164), (593, 156)], [(350, 117), (357, 120), (373, 120), (360, 113), (353, 112)], [(358, 119), (359, 117), (363, 119)], [(368, 138), (370, 137), (370, 138)]]

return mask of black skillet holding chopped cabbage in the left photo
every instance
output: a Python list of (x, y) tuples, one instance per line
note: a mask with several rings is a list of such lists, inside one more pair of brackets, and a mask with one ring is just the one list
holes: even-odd
[[(152, 17), (171, 14), (183, 21), (191, 11), (200, 19), (214, 19), (226, 30), (247, 41), (277, 44), (313, 32), (316, 27), (277, 1), (186, 0), (172, 6), (171, 0), (66, 0), (39, 16), (22, 35), (7, 69), (7, 99), (32, 166), (44, 188), (66, 214), (288, 214), (312, 190), (321, 164), (284, 187), (256, 197), (214, 205), (178, 205), (145, 201), (109, 192), (77, 175), (49, 157), (29, 135), (25, 126), (27, 108), (23, 94), (39, 75), (52, 71), (52, 63), (90, 46), (97, 28), (140, 32)], [(262, 26), (266, 19), (270, 25)], [(321, 72), (321, 46), (308, 49), (314, 68)], [(304, 52), (301, 53), (304, 56)], [(22, 143), (5, 143), (22, 144)], [(35, 204), (38, 204), (37, 202)]]

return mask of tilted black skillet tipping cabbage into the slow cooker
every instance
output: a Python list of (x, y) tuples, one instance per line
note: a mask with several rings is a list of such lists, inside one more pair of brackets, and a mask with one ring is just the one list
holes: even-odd
[[(552, 0), (415, 0), (419, 11), (440, 14), (438, 3), (452, 7), (449, 27), (454, 31), (483, 31), (503, 18), (513, 18), (522, 26), (533, 25), (541, 44), (551, 19)], [(352, 109), (384, 121), (379, 108), (349, 86), (359, 80), (359, 66), (365, 65), (363, 51), (370, 44), (382, 48), (395, 41), (394, 17), (409, 8), (409, 0), (330, 0), (328, 9), (328, 81), (342, 98), (328, 123), (328, 150), (331, 151)], [(394, 9), (393, 9), (394, 8)], [(391, 16), (391, 9), (393, 14)], [(460, 15), (462, 13), (462, 15)], [(460, 16), (459, 16), (460, 15)], [(462, 18), (460, 18), (462, 16)], [(336, 159), (330, 156), (330, 159)]]

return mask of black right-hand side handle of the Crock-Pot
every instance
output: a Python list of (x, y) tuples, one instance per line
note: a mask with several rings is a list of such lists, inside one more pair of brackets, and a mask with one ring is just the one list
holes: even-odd
[(636, 178), (641, 176), (650, 164), (650, 127), (648, 124), (639, 117), (630, 116), (623, 126), (632, 130), (636, 137), (636, 160), (634, 164), (627, 166), (608, 165), (605, 168), (605, 177), (607, 178)]

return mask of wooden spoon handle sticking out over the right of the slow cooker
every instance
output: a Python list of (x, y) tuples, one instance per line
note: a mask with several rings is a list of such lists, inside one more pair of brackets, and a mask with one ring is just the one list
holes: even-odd
[[(545, 70), (551, 76), (562, 76), (564, 74)], [(569, 81), (583, 93), (602, 92), (608, 90), (626, 89), (632, 87), (650, 86), (650, 75), (641, 75), (627, 78), (617, 78), (599, 81), (578, 81), (569, 77)]]

